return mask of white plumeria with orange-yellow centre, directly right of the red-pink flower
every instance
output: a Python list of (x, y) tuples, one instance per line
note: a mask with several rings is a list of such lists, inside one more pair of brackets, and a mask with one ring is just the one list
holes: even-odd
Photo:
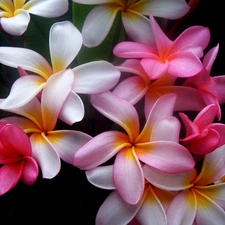
[[(41, 168), (43, 178), (53, 178), (60, 171), (61, 161), (73, 163), (75, 151), (90, 140), (90, 136), (75, 130), (55, 130), (61, 109), (74, 79), (73, 72), (59, 72), (49, 78), (41, 96), (41, 102), (34, 97), (27, 104), (9, 110), (20, 116), (3, 118), (1, 121), (12, 123), (29, 134), (32, 157), (36, 159)], [(71, 111), (66, 115), (76, 114)]]

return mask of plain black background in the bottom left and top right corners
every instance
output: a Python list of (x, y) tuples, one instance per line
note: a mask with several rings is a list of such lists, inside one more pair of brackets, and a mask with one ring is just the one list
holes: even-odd
[[(179, 27), (180, 30), (192, 25), (209, 27), (211, 42), (208, 49), (220, 44), (212, 70), (212, 75), (216, 76), (225, 74), (225, 13), (222, 3), (219, 0), (201, 0)], [(34, 185), (18, 183), (1, 196), (0, 224), (57, 222), (94, 225), (97, 210), (109, 193), (88, 183), (84, 171), (62, 162), (62, 169), (54, 179), (42, 179), (40, 175)]]

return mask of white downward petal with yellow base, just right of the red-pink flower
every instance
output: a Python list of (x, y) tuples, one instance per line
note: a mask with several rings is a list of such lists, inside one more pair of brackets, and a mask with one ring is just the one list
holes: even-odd
[(44, 135), (34, 133), (30, 136), (30, 141), (32, 157), (37, 161), (42, 177), (47, 179), (54, 178), (61, 168), (58, 153)]

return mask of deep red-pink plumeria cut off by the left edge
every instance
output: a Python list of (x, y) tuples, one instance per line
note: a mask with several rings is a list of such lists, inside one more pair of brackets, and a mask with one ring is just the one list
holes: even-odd
[(0, 195), (22, 181), (35, 183), (38, 164), (32, 157), (31, 143), (25, 132), (12, 124), (0, 122)]

